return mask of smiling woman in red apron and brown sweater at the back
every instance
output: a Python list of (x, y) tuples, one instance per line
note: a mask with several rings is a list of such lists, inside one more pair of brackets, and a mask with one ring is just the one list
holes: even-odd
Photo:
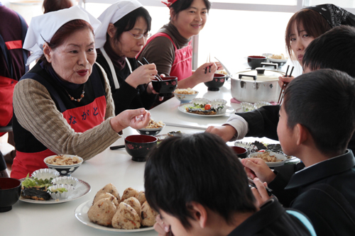
[(170, 9), (170, 22), (149, 38), (138, 60), (146, 57), (148, 62), (156, 65), (159, 74), (178, 77), (180, 89), (211, 81), (214, 72), (222, 67), (207, 62), (192, 74), (191, 45), (192, 36), (200, 33), (207, 21), (210, 2), (168, 0), (168, 4), (164, 4)]

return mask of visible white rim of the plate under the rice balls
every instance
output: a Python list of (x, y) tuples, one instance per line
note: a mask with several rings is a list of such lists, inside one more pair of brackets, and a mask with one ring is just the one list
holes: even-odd
[(81, 203), (79, 206), (77, 206), (74, 212), (75, 218), (77, 218), (77, 220), (79, 220), (81, 223), (89, 227), (94, 227), (97, 230), (104, 230), (104, 231), (111, 231), (111, 232), (142, 232), (142, 231), (154, 230), (154, 227), (142, 227), (136, 230), (122, 230), (122, 229), (115, 229), (114, 227), (106, 227), (106, 226), (94, 224), (90, 221), (89, 217), (87, 216), (87, 212), (89, 211), (89, 208), (91, 206), (92, 206), (92, 201), (86, 201), (84, 203)]

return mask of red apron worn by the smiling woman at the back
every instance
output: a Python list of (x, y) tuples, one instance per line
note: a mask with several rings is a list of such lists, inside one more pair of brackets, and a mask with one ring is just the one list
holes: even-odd
[[(148, 39), (146, 45), (151, 42), (154, 38), (163, 36), (168, 38), (175, 47), (175, 60), (170, 69), (170, 77), (178, 77), (178, 81), (186, 79), (187, 77), (192, 76), (192, 46), (191, 41), (186, 47), (177, 49), (173, 40), (166, 33), (156, 33), (151, 38)], [(143, 47), (144, 48), (144, 47)], [(142, 49), (143, 50), (143, 49)], [(139, 56), (139, 55), (138, 55)], [(137, 57), (138, 57), (137, 56)]]

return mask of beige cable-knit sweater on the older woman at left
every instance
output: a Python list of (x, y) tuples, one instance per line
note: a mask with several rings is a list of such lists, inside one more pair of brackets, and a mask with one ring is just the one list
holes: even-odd
[[(102, 69), (102, 67), (100, 66)], [(75, 133), (55, 106), (45, 86), (33, 79), (23, 79), (13, 91), (13, 111), (18, 123), (56, 154), (75, 154), (87, 160), (103, 152), (119, 139), (110, 125), (114, 116), (114, 101), (107, 74), (105, 78), (105, 121), (84, 133)]]

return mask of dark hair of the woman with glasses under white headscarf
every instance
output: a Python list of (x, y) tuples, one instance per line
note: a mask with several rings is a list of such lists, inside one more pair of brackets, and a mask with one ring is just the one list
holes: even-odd
[[(138, 9), (131, 11), (126, 16), (119, 19), (119, 21), (116, 21), (114, 23), (114, 27), (116, 28), (114, 40), (118, 41), (119, 38), (121, 37), (122, 33), (133, 29), (134, 25), (136, 24), (137, 19), (140, 17), (143, 17), (144, 21), (146, 21), (146, 23), (147, 23), (147, 30), (146, 30), (146, 32), (143, 32), (143, 33), (148, 33), (149, 31), (151, 31), (151, 23), (152, 23), (151, 15), (147, 11), (147, 9), (145, 9), (145, 8), (143, 8), (143, 6), (141, 6)], [(107, 34), (107, 38), (109, 38), (109, 34)]]

